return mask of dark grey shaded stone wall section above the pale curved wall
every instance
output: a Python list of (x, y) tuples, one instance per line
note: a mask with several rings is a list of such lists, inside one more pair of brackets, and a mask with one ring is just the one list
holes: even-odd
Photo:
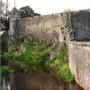
[(90, 41), (90, 11), (81, 10), (73, 12), (70, 19), (74, 39), (78, 41)]

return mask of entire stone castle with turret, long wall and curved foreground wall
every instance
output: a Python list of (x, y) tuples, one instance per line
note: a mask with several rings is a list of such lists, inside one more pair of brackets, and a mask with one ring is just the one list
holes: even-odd
[(69, 67), (76, 82), (90, 90), (90, 11), (63, 12), (20, 18), (16, 8), (10, 13), (9, 35), (25, 33), (30, 40), (45, 43), (65, 42)]

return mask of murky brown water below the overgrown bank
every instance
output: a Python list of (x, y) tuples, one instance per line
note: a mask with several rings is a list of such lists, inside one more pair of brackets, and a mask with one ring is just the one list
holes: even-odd
[(63, 79), (56, 80), (45, 72), (15, 73), (11, 90), (83, 90), (78, 84), (69, 84)]

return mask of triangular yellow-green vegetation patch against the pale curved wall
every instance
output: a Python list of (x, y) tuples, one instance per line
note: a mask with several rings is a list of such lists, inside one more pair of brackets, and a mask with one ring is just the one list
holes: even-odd
[(62, 77), (65, 81), (73, 83), (75, 81), (74, 76), (69, 70), (68, 58), (67, 58), (67, 48), (63, 47), (60, 54), (57, 55), (53, 60), (48, 61), (48, 66), (53, 73), (58, 77)]

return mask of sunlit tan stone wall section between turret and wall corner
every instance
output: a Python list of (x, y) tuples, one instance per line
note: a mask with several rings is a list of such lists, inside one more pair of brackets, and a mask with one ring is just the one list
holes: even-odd
[(17, 20), (18, 32), (26, 33), (29, 38), (40, 42), (54, 43), (64, 41), (65, 15), (53, 14)]

